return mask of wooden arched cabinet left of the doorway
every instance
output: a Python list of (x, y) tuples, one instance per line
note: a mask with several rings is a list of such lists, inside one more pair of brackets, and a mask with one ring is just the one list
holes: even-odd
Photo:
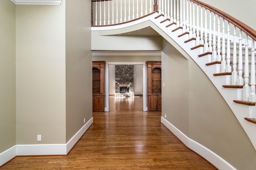
[(92, 61), (92, 111), (104, 112), (105, 61)]

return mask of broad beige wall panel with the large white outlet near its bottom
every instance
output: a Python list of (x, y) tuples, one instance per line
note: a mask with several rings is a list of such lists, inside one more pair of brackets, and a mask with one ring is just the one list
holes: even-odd
[(64, 28), (65, 1), (16, 5), (17, 145), (66, 143)]

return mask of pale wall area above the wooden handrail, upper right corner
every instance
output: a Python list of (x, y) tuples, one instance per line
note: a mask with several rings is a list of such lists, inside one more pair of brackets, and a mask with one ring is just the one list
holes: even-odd
[(255, 16), (255, 0), (201, 0), (206, 4), (214, 6), (234, 18), (244, 22), (253, 29), (256, 29), (256, 23), (254, 21)]

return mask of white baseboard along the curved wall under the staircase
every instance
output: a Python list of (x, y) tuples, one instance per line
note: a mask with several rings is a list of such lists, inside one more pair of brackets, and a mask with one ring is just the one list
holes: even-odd
[(194, 152), (200, 154), (210, 163), (212, 163), (216, 168), (220, 170), (236, 170), (232, 165), (230, 165), (226, 160), (212, 152), (210, 149), (207, 149), (200, 143), (188, 138), (184, 133), (177, 129), (174, 125), (168, 122), (164, 117), (161, 117), (161, 123), (167, 127), (184, 145), (188, 148), (194, 150)]

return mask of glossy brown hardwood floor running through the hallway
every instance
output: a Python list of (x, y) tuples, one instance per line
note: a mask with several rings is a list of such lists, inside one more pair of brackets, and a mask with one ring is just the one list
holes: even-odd
[(140, 98), (110, 98), (110, 111), (94, 123), (67, 156), (17, 156), (1, 170), (215, 170), (164, 125), (161, 113), (142, 111)]

